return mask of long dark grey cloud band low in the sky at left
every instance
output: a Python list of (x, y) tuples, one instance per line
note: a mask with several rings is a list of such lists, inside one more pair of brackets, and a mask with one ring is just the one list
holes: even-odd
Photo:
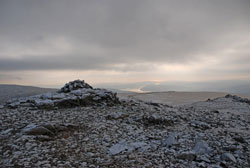
[[(135, 64), (133, 61), (121, 64), (119, 57), (61, 56), (30, 57), (29, 59), (1, 59), (0, 71), (15, 70), (115, 70), (122, 72), (149, 71), (156, 65), (148, 63)], [(75, 61), (77, 60), (77, 61)]]

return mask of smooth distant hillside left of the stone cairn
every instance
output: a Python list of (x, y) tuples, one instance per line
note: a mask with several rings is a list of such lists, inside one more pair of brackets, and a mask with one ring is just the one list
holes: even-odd
[(54, 92), (57, 89), (39, 88), (34, 86), (0, 84), (0, 104), (18, 97), (32, 96), (40, 93)]

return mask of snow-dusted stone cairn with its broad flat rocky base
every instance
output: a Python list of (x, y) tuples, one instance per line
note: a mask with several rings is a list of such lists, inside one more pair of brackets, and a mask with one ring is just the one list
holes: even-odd
[(116, 93), (106, 89), (93, 88), (83, 80), (66, 83), (58, 92), (10, 100), (5, 106), (10, 108), (61, 108), (87, 105), (114, 105), (119, 103)]

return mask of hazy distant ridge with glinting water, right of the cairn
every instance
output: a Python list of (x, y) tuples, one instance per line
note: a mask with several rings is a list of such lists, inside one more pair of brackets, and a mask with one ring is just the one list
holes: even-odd
[(243, 94), (250, 96), (249, 80), (221, 80), (209, 82), (136, 82), (136, 83), (106, 83), (99, 84), (105, 88), (113, 88), (118, 90), (131, 90), (140, 92), (225, 92), (231, 94)]

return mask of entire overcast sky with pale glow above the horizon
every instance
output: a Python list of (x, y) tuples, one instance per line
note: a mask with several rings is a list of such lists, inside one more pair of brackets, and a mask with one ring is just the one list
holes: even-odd
[(0, 83), (250, 81), (249, 0), (0, 0)]

